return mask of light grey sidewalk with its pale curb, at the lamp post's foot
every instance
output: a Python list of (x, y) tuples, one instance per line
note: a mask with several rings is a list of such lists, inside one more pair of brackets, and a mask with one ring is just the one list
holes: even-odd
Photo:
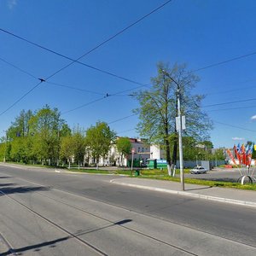
[(138, 189), (149, 189), (169, 194), (186, 195), (205, 200), (256, 207), (256, 191), (253, 190), (222, 189), (185, 183), (185, 190), (183, 191), (180, 183), (134, 177), (114, 178), (110, 182)]

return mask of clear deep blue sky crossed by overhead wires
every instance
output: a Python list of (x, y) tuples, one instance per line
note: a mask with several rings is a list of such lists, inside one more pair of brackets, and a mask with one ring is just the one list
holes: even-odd
[[(1, 0), (0, 28), (71, 58), (78, 58), (125, 26), (157, 8), (164, 0)], [(86, 55), (80, 61), (148, 84), (158, 61), (187, 63), (190, 70), (256, 52), (256, 2), (249, 0), (173, 0), (154, 14)], [(0, 58), (36, 78), (47, 78), (70, 61), (0, 32)], [(255, 141), (256, 54), (196, 72), (195, 93), (206, 94), (203, 106), (214, 122), (214, 147)], [(0, 60), (0, 113), (38, 80)], [(48, 80), (84, 90), (43, 83), (0, 116), (0, 137), (21, 109), (45, 104), (58, 108), (67, 123), (85, 129), (97, 120), (112, 122), (131, 115), (137, 102), (120, 94), (75, 111), (73, 108), (137, 87), (122, 79), (74, 63)], [(127, 94), (127, 93), (126, 93)], [(252, 100), (251, 100), (252, 99)], [(250, 100), (241, 102), (243, 100)], [(232, 108), (232, 109), (231, 109)], [(111, 124), (120, 136), (138, 137), (132, 116)], [(243, 129), (238, 129), (239, 126)], [(250, 131), (248, 131), (250, 130)]]

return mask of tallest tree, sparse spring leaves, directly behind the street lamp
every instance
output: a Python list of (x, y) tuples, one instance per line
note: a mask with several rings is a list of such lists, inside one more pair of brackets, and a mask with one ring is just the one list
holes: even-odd
[(164, 145), (171, 174), (171, 165), (175, 165), (177, 160), (177, 84), (181, 95), (181, 113), (186, 116), (187, 129), (184, 135), (203, 140), (208, 137), (212, 122), (207, 113), (201, 110), (204, 96), (192, 95), (199, 81), (194, 73), (188, 71), (185, 65), (174, 64), (169, 67), (162, 62), (157, 64), (157, 71), (157, 76), (151, 79), (152, 87), (134, 95), (140, 104), (140, 108), (135, 109), (140, 119), (137, 130), (150, 143)]

